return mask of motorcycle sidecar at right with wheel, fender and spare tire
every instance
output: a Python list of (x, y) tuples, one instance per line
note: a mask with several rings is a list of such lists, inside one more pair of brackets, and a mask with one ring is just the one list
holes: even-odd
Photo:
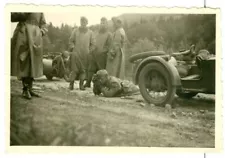
[(143, 98), (155, 105), (172, 103), (175, 94), (191, 98), (197, 93), (215, 93), (215, 58), (191, 65), (188, 75), (180, 77), (177, 68), (168, 62), (170, 56), (151, 51), (131, 56), (133, 81)]

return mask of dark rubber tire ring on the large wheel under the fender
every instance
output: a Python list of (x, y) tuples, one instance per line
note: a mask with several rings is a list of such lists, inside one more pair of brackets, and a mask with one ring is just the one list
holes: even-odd
[[(152, 100), (152, 98), (149, 96), (147, 89), (145, 87), (145, 75), (150, 71), (150, 70), (156, 70), (158, 72), (160, 72), (162, 75), (165, 76), (167, 85), (168, 87), (168, 92), (167, 92), (167, 96), (164, 100), (160, 100), (160, 101), (154, 101)], [(158, 62), (153, 62), (153, 63), (149, 63), (147, 65), (145, 65), (142, 70), (140, 71), (140, 74), (138, 76), (138, 85), (140, 88), (140, 92), (142, 97), (148, 102), (148, 103), (152, 103), (155, 104), (156, 106), (164, 106), (165, 104), (171, 104), (172, 101), (174, 100), (175, 94), (176, 94), (176, 87), (172, 85), (172, 77), (169, 74), (169, 72), (167, 71), (167, 69)]]

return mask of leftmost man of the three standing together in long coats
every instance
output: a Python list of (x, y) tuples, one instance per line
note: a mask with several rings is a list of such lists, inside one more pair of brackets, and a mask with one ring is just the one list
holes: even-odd
[(93, 32), (87, 27), (88, 19), (81, 17), (80, 22), (81, 26), (73, 30), (69, 39), (70, 50), (72, 51), (70, 57), (70, 90), (73, 90), (77, 76), (80, 79), (80, 90), (85, 90), (84, 80), (87, 77), (88, 55), (95, 49)]

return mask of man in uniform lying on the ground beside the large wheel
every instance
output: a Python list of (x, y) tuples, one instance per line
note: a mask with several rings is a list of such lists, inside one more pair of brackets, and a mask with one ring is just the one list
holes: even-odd
[(139, 88), (127, 80), (109, 76), (106, 70), (99, 70), (93, 76), (93, 92), (104, 97), (120, 97), (139, 94)]

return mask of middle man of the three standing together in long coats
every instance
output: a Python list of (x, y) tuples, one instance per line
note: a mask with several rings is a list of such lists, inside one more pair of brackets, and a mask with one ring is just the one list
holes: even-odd
[(90, 87), (92, 76), (101, 69), (106, 68), (107, 54), (112, 42), (112, 34), (108, 31), (108, 21), (101, 18), (101, 24), (96, 35), (96, 49), (89, 55), (88, 76), (85, 87)]

